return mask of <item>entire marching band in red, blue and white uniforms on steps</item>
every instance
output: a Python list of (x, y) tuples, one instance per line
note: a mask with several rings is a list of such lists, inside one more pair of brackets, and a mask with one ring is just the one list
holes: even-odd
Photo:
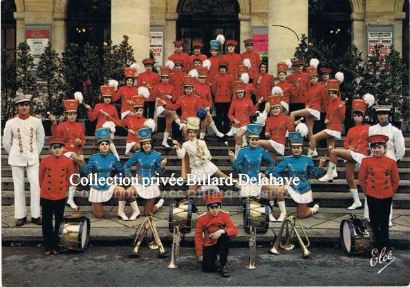
[[(262, 172), (263, 161), (266, 164), (263, 174), (266, 176), (284, 177), (284, 171), (288, 170), (289, 177), (299, 177), (299, 185), (290, 184), (281, 192), (277, 192), (275, 186), (240, 186), (241, 197), (277, 200), (280, 215), (275, 219), (270, 212), (270, 221), (286, 218), (286, 195), (297, 202), (297, 217), (305, 218), (317, 212), (317, 204), (308, 208), (308, 204), (313, 202), (309, 179), (324, 182), (335, 179), (338, 158), (346, 161), (346, 180), (353, 198), (353, 204), (348, 209), (360, 208), (362, 204), (354, 179), (355, 164), (359, 164), (358, 179), (366, 195), (364, 217), (370, 219), (377, 248), (388, 247), (391, 202), (399, 184), (395, 161), (402, 159), (405, 152), (402, 132), (389, 122), (391, 107), (375, 106), (379, 123), (369, 126), (364, 119), (366, 110), (374, 103), (374, 97), (366, 94), (363, 99), (353, 99), (355, 126), (348, 130), (344, 148), (335, 148), (335, 139), (341, 138), (346, 112), (345, 101), (339, 91), (342, 73), (338, 72), (336, 79), (330, 79), (332, 70), (322, 67), (319, 71), (322, 72), (323, 81), (319, 81), (317, 59), (310, 61), (306, 72), (303, 70), (304, 61), (284, 61), (277, 64), (279, 81), (275, 83), (273, 75), (267, 71), (267, 64), (261, 62), (257, 52), (253, 51), (252, 39), (244, 41), (246, 51), (241, 55), (234, 52), (236, 41), (227, 40), (226, 54), (218, 57), (218, 50), (224, 41), (221, 35), (211, 41), (209, 58), (201, 54), (203, 43), (194, 42), (194, 54), (189, 56), (182, 52), (183, 41), (175, 41), (175, 52), (169, 57), (167, 65), (160, 67), (160, 75), (153, 72), (153, 59), (142, 61), (145, 72), (140, 73), (138, 79), (135, 66), (125, 68), (124, 86), (118, 87), (118, 81), (109, 81), (109, 85), (100, 89), (102, 102), (93, 108), (83, 103), (82, 94), (76, 92), (75, 99), (64, 100), (66, 121), (57, 123), (55, 117), (49, 115), (53, 135), (48, 138), (51, 155), (41, 159), (41, 163), (39, 154), (44, 147), (41, 119), (30, 115), (30, 95), (15, 98), (18, 115), (6, 123), (3, 146), (9, 154), (8, 164), (12, 166), (16, 225), (22, 226), (27, 221), (24, 195), (26, 170), (30, 183), (32, 222), (42, 224), (46, 255), (58, 254), (57, 233), (64, 215), (67, 191), (67, 204), (78, 210), (74, 202), (75, 186), (68, 181), (73, 173), (80, 172), (84, 176), (96, 173), (104, 178), (111, 177), (114, 170), (123, 176), (139, 178), (163, 174), (167, 159), (162, 159), (156, 152), (151, 137), (156, 130), (158, 117), (165, 117), (162, 146), (171, 148), (169, 143), (174, 145), (178, 158), (182, 159), (183, 175), (192, 173), (199, 177), (205, 173), (212, 177), (227, 177), (211, 161), (205, 141), (209, 126), (222, 140), (234, 137), (235, 148), (234, 151), (230, 150), (229, 157), (236, 172), (250, 178), (257, 177)], [(295, 72), (288, 75), (290, 67)], [(119, 100), (120, 113), (113, 105)], [(84, 129), (76, 121), (80, 104), (86, 108), (88, 119), (97, 121), (95, 137), (99, 150), (88, 162), (84, 160), (82, 151), (86, 143)], [(215, 109), (215, 119), (212, 108)], [(251, 123), (252, 115), (257, 116), (256, 123)], [(301, 122), (303, 119), (306, 125)], [(172, 123), (183, 131), (185, 142), (182, 145), (169, 137)], [(322, 124), (324, 129), (314, 134), (315, 124)], [(115, 127), (128, 131), (125, 155), (130, 158), (124, 164), (120, 162), (113, 142)], [(263, 127), (265, 139), (260, 139)], [(305, 136), (308, 136), (309, 148), (307, 155), (302, 155)], [(277, 155), (285, 155), (287, 137), (292, 155), (275, 163)], [(318, 167), (312, 160), (317, 156), (316, 146), (320, 139), (327, 139), (328, 142), (330, 162), (327, 171), (324, 170), (324, 157)], [(136, 166), (136, 172), (131, 170), (132, 166)], [(197, 189), (198, 186), (189, 186), (188, 195), (196, 194)], [(136, 195), (145, 199), (145, 216), (158, 211), (164, 203), (163, 199), (159, 199), (159, 184), (95, 185), (90, 188), (88, 200), (93, 205), (95, 217), (101, 218), (104, 216), (103, 203), (113, 196), (118, 197), (118, 217), (136, 220), (140, 216)], [(203, 270), (214, 271), (216, 254), (219, 254), (221, 274), (227, 277), (229, 237), (237, 235), (238, 229), (232, 224), (229, 214), (221, 210), (222, 196), (221, 193), (205, 195), (207, 212), (196, 221), (195, 244)], [(130, 217), (124, 213), (127, 201), (133, 209)]]

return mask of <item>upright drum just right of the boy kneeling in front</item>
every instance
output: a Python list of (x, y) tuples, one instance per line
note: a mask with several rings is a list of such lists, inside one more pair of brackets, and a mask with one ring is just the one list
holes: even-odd
[(269, 229), (270, 208), (258, 199), (247, 198), (243, 202), (243, 226), (250, 233), (253, 226), (258, 233), (266, 233)]

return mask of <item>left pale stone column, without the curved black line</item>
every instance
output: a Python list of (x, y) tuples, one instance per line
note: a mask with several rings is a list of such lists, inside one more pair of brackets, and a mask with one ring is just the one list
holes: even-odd
[(142, 60), (149, 57), (150, 1), (111, 0), (111, 40), (113, 44), (122, 41), (127, 34), (134, 49), (134, 57), (140, 65), (138, 72), (145, 69)]

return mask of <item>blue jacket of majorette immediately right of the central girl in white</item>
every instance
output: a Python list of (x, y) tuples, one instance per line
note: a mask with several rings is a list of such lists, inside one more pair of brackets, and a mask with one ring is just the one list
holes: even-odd
[(274, 160), (272, 157), (270, 157), (265, 148), (261, 148), (260, 146), (252, 148), (252, 146), (249, 145), (239, 150), (238, 157), (235, 161), (232, 161), (231, 166), (236, 172), (246, 174), (252, 179), (258, 177), (261, 171), (262, 161), (268, 163), (265, 175), (270, 174), (274, 168)]

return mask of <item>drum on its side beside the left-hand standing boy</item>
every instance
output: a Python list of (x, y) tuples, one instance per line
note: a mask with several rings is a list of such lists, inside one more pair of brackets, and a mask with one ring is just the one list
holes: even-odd
[(66, 215), (59, 226), (58, 245), (62, 250), (85, 251), (90, 239), (90, 219), (83, 213)]

